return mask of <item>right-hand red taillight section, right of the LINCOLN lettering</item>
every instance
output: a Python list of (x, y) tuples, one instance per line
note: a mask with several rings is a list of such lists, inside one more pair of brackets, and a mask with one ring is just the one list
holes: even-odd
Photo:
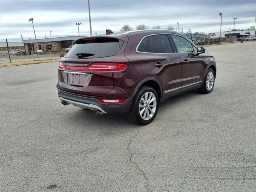
[(93, 63), (88, 71), (122, 71), (126, 67), (123, 63)]

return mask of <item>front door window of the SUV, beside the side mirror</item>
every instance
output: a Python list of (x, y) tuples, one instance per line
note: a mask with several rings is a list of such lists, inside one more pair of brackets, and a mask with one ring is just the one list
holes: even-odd
[(174, 40), (174, 43), (176, 44), (179, 53), (194, 53), (192, 44), (188, 40), (177, 35), (172, 35), (172, 38)]

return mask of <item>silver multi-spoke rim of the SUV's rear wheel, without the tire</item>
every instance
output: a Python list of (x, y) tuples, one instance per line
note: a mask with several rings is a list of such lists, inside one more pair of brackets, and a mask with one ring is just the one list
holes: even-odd
[(146, 92), (140, 98), (140, 116), (143, 120), (150, 120), (156, 112), (156, 96), (152, 92)]

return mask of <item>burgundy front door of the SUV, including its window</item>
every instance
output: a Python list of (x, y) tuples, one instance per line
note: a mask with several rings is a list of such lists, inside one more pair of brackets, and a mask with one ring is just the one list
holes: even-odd
[(196, 48), (186, 38), (175, 34), (172, 34), (171, 37), (182, 61), (182, 89), (200, 86), (204, 76), (204, 60), (200, 55), (196, 56)]

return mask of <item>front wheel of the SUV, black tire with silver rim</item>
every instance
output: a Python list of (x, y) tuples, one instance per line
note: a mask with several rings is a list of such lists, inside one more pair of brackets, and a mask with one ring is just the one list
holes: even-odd
[(212, 92), (214, 83), (215, 83), (214, 70), (212, 70), (212, 68), (209, 68), (205, 74), (204, 82), (202, 86), (198, 89), (198, 91), (203, 94), (208, 94)]

